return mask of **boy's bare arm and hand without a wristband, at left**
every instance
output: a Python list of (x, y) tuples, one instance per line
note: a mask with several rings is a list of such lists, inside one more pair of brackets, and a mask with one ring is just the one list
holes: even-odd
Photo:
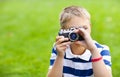
[(64, 38), (63, 36), (58, 36), (56, 38), (56, 50), (57, 50), (57, 57), (52, 68), (49, 70), (47, 77), (62, 77), (63, 74), (63, 60), (64, 60), (64, 52), (67, 48), (67, 45), (70, 42), (63, 42), (67, 41), (68, 38)]

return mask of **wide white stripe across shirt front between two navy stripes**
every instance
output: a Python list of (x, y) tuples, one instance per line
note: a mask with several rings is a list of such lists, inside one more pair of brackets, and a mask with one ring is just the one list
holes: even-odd
[(92, 63), (80, 63), (80, 62), (73, 62), (71, 60), (64, 59), (64, 66), (71, 67), (74, 69), (79, 70), (88, 70), (92, 69)]

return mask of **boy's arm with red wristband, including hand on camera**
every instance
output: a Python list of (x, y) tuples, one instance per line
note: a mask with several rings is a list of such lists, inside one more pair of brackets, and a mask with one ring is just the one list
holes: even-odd
[[(92, 58), (99, 58), (101, 57), (101, 54), (99, 53), (98, 48), (94, 44), (91, 36), (85, 29), (80, 29), (77, 31), (79, 34), (81, 34), (84, 37), (84, 41), (79, 41), (81, 45), (83, 45), (85, 48), (89, 49), (92, 54)], [(105, 66), (105, 63), (103, 59), (92, 62), (94, 77), (112, 77), (111, 70), (108, 70)]]

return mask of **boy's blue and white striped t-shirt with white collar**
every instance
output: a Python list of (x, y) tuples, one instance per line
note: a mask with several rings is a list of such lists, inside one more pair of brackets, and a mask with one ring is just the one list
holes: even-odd
[[(99, 49), (101, 56), (103, 57), (106, 67), (111, 70), (111, 56), (109, 48), (106, 45), (101, 45), (95, 42), (95, 45)], [(56, 47), (52, 49), (50, 58), (50, 69), (52, 68), (57, 56)], [(91, 62), (91, 53), (86, 50), (82, 55), (74, 55), (71, 52), (70, 46), (65, 51), (64, 64), (63, 64), (63, 76), (64, 77), (93, 77), (93, 69)]]

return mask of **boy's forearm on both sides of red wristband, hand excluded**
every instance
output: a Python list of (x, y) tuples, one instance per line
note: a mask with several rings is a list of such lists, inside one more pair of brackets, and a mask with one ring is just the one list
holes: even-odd
[[(92, 58), (101, 57), (99, 50), (95, 47), (92, 50)], [(111, 72), (106, 68), (103, 59), (92, 62), (94, 77), (112, 77)]]

